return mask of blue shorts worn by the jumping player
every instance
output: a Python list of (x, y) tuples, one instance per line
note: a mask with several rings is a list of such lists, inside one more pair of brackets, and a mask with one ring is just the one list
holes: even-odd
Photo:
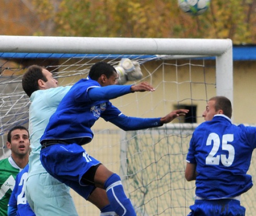
[(82, 176), (100, 162), (89, 156), (82, 146), (77, 144), (54, 144), (43, 148), (40, 160), (47, 172), (55, 179), (75, 190), (86, 200), (95, 186), (84, 185)]

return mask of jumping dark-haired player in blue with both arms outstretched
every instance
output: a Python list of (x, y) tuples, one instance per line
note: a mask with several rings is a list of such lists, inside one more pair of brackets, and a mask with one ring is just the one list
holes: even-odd
[(115, 85), (118, 74), (106, 62), (91, 67), (86, 79), (81, 79), (64, 96), (41, 137), (41, 162), (43, 167), (59, 181), (72, 187), (86, 200), (101, 193), (109, 204), (96, 205), (112, 214), (136, 215), (131, 201), (126, 197), (120, 176), (108, 170), (91, 157), (82, 147), (94, 137), (91, 127), (101, 117), (119, 128), (141, 130), (162, 126), (189, 110), (174, 110), (162, 118), (136, 118), (125, 116), (110, 99), (133, 92), (154, 92), (147, 82), (137, 85)]

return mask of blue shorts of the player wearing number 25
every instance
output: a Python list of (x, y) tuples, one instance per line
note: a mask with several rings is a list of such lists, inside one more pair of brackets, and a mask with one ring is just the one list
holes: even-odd
[(188, 216), (245, 216), (245, 207), (236, 199), (195, 200)]

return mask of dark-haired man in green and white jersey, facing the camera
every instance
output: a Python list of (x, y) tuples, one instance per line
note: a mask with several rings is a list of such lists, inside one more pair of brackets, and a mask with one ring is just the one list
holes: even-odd
[(6, 146), (11, 155), (0, 160), (0, 216), (7, 216), (16, 175), (28, 164), (29, 145), (29, 132), (24, 126), (15, 126), (8, 132)]

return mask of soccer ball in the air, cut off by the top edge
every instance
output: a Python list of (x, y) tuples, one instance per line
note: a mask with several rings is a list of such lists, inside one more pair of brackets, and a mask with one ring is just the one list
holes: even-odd
[(208, 9), (210, 2), (211, 0), (178, 0), (178, 5), (185, 13), (198, 16)]

